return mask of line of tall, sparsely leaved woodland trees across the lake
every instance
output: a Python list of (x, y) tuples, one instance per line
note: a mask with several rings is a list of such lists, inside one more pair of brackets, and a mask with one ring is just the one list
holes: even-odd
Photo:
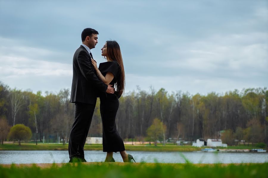
[[(69, 89), (42, 94), (11, 89), (0, 82), (0, 118), (6, 119), (10, 126), (24, 124), (41, 136), (58, 133), (67, 140), (74, 121), (74, 104), (69, 101)], [(191, 95), (182, 91), (169, 93), (164, 88), (156, 91), (150, 87), (144, 91), (137, 87), (119, 98), (116, 125), (125, 140), (148, 139), (151, 135), (148, 130), (152, 130), (149, 127), (157, 118), (162, 125), (162, 140), (219, 139), (225, 132), (225, 137), (231, 134), (233, 140), (268, 143), (267, 102), (267, 88)], [(102, 134), (99, 99), (89, 131), (89, 135), (94, 134)]]

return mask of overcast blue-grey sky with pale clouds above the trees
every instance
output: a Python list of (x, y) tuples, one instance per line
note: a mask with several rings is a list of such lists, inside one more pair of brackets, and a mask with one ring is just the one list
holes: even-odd
[(0, 81), (11, 88), (71, 88), (84, 28), (119, 42), (126, 92), (191, 94), (268, 86), (268, 3), (261, 1), (0, 0)]

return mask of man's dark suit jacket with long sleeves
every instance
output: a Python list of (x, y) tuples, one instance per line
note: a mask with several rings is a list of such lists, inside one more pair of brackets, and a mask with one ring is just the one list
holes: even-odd
[(91, 56), (82, 45), (75, 51), (73, 58), (73, 81), (71, 103), (96, 104), (99, 92), (105, 92), (107, 85), (96, 76)]

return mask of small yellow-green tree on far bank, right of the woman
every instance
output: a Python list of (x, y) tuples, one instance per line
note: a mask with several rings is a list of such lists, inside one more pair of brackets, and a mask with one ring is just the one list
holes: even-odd
[(153, 120), (152, 125), (147, 129), (147, 137), (150, 141), (155, 142), (157, 146), (157, 140), (163, 140), (163, 133), (166, 133), (166, 125), (158, 118)]

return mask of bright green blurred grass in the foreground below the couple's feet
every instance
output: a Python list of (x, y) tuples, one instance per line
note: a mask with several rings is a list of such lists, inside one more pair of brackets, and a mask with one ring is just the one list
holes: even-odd
[(268, 163), (262, 164), (164, 164), (164, 163), (66, 163), (51, 167), (0, 166), (0, 177), (16, 178), (58, 178), (58, 177), (267, 177)]

